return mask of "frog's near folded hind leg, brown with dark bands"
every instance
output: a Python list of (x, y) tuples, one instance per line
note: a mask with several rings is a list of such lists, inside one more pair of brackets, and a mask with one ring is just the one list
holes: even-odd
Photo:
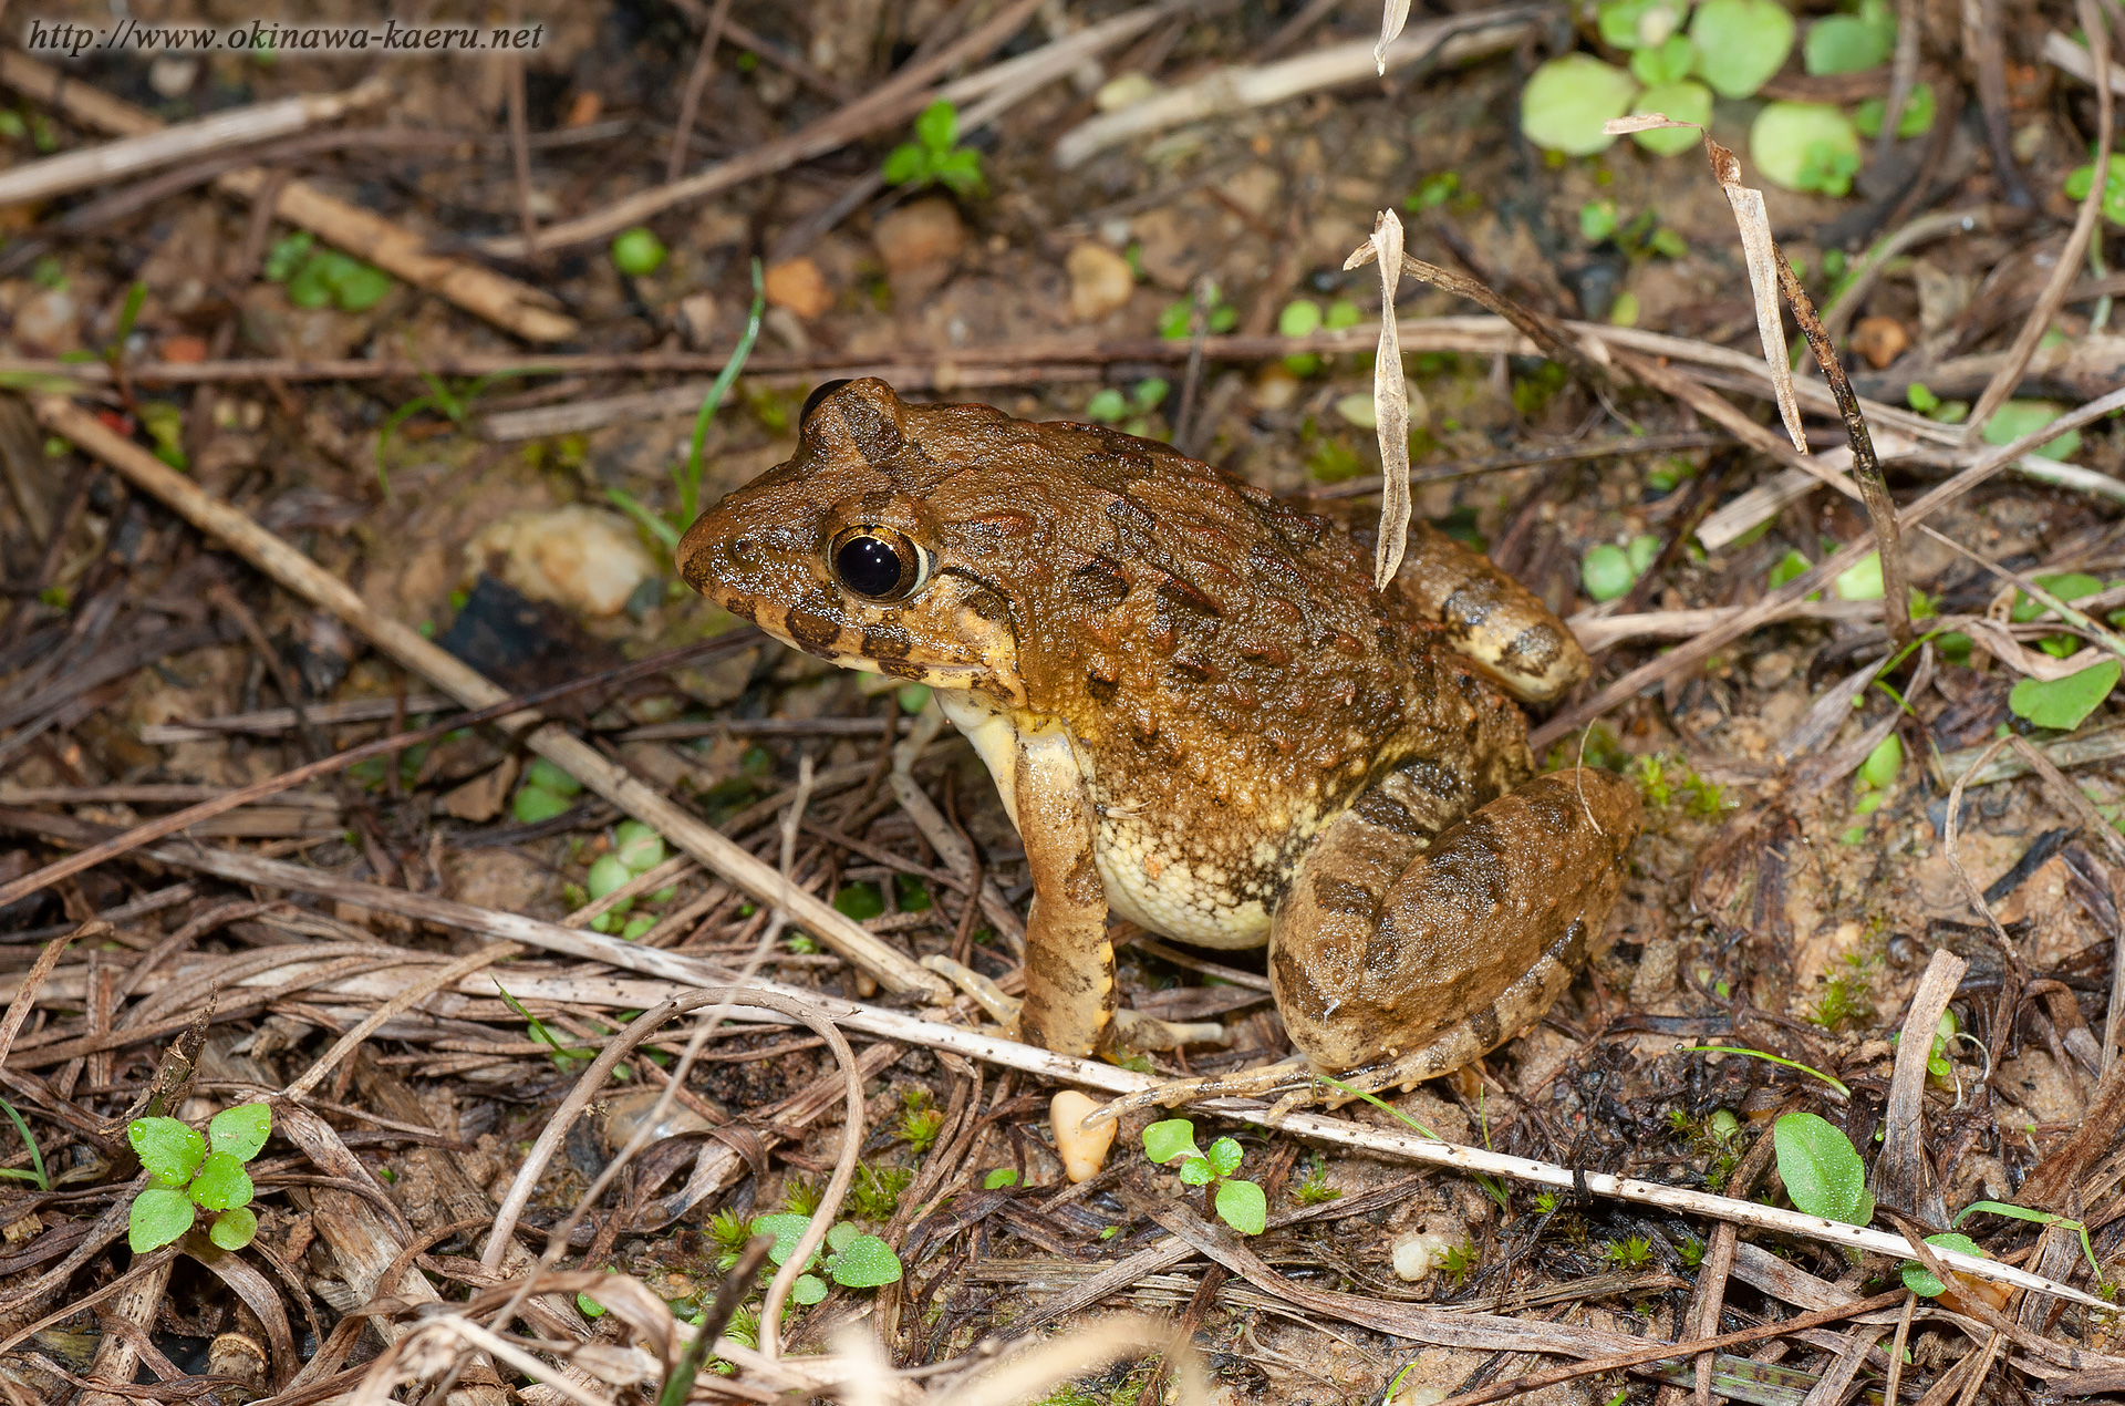
[(1430, 1078), (1528, 1030), (1585, 964), (1638, 821), (1636, 787), (1598, 770), (1538, 776), (1428, 847), (1368, 796), (1277, 906), (1269, 976), (1292, 1042), (1326, 1070)]

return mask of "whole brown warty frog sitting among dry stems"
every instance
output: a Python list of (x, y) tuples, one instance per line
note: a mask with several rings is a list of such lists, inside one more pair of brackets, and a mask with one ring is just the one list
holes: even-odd
[(1303, 1061), (1198, 1091), (1411, 1085), (1543, 1017), (1640, 806), (1611, 772), (1534, 774), (1509, 693), (1553, 700), (1587, 659), (1532, 593), (1422, 525), (1375, 591), (1362, 528), (1154, 440), (822, 389), (680, 570), (935, 689), (1026, 844), (1022, 1038), (1114, 1044), (1109, 913), (1269, 944)]

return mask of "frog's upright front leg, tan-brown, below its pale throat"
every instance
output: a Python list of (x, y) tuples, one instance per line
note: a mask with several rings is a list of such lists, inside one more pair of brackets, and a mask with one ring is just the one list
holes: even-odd
[(1020, 1034), (1058, 1055), (1090, 1055), (1114, 1021), (1114, 944), (1092, 859), (1092, 796), (1060, 727), (1018, 736), (1012, 802), (1033, 872)]

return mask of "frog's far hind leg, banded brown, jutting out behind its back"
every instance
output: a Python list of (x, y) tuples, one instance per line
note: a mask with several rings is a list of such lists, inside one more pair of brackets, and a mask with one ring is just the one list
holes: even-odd
[(1594, 668), (1570, 625), (1534, 591), (1430, 523), (1411, 528), (1394, 589), (1445, 627), (1456, 653), (1524, 702), (1553, 702)]

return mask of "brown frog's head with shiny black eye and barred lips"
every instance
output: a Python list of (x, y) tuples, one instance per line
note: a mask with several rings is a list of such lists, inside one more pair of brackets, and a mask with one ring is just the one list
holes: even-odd
[(1009, 608), (956, 570), (933, 508), (948, 470), (916, 442), (918, 415), (884, 381), (818, 387), (790, 462), (703, 513), (678, 570), (805, 653), (1022, 704)]

